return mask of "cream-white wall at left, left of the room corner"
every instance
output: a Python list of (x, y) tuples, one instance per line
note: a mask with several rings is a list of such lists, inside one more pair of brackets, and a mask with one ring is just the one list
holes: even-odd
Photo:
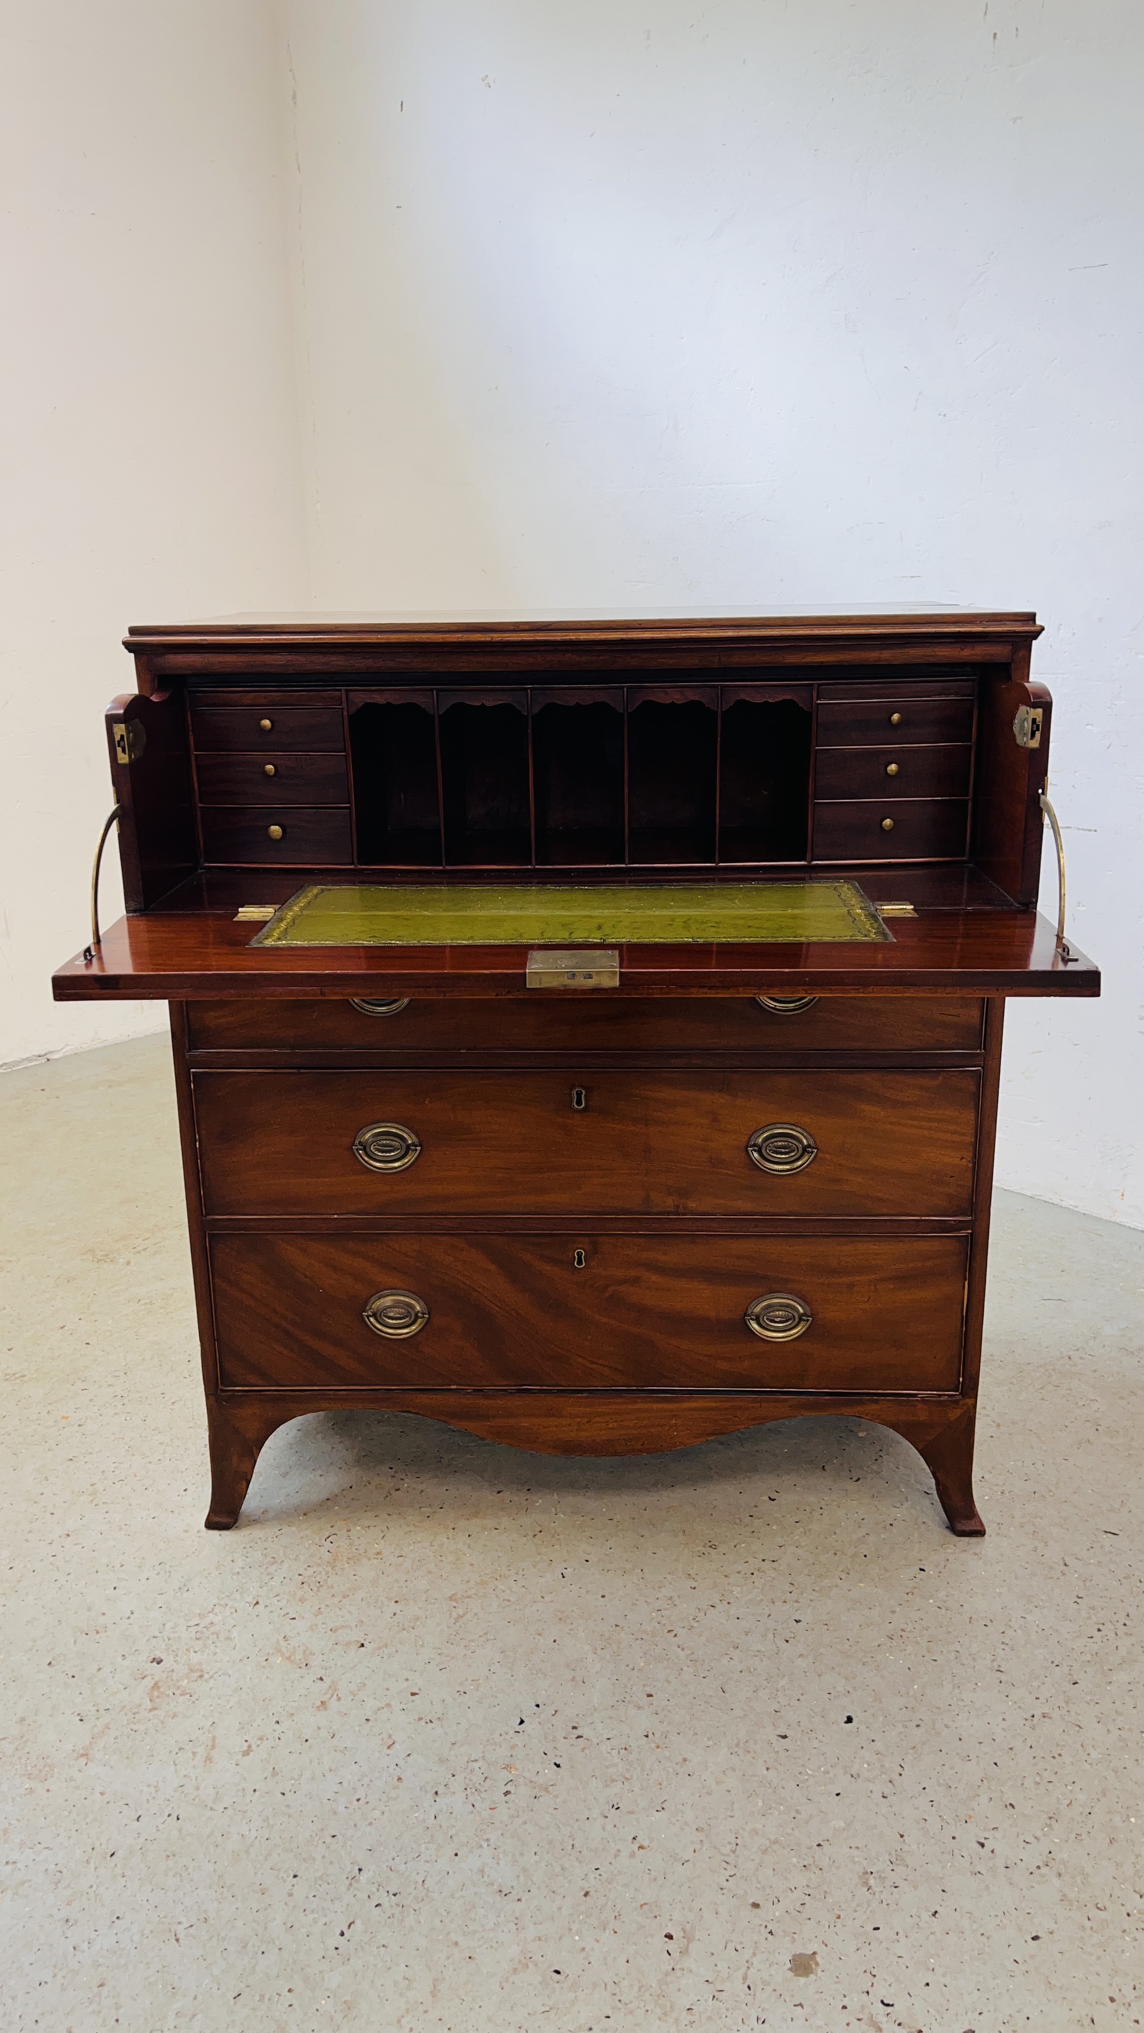
[(49, 986), (90, 937), (124, 628), (305, 598), (287, 140), (273, 6), (0, 8), (0, 1061), (167, 1021)]

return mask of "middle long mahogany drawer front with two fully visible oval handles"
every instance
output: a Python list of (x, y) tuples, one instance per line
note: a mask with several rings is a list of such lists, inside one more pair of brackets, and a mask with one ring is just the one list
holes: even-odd
[[(197, 1071), (193, 1086), (208, 1214), (959, 1218), (973, 1197), (979, 1073), (969, 1067), (582, 1082), (576, 1071)], [(354, 1155), (379, 1124), (419, 1145), (401, 1169)], [(749, 1138), (771, 1126), (810, 1141), (800, 1169), (751, 1157)], [(759, 1151), (767, 1165), (774, 1149)]]

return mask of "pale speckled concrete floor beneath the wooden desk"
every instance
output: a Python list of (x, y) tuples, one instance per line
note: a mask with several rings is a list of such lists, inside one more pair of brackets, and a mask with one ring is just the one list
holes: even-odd
[(1144, 2021), (1144, 1236), (999, 1195), (977, 1498), (285, 1427), (204, 1533), (169, 1051), (0, 1080), (6, 2033)]

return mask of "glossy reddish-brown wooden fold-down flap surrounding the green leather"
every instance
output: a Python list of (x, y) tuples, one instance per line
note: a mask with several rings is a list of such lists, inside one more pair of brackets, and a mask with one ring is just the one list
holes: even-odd
[(92, 962), (77, 953), (59, 968), (53, 996), (1099, 994), (1093, 962), (1065, 964), (1054, 927), (1032, 911), (922, 911), (894, 919), (885, 945), (627, 945), (619, 990), (527, 990), (525, 947), (283, 951), (250, 945), (256, 929), (234, 923), (232, 907), (120, 917)]

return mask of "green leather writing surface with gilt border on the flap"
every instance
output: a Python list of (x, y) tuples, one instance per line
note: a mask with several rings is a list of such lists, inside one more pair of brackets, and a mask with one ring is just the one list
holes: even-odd
[(309, 884), (250, 945), (755, 945), (890, 939), (857, 882)]

